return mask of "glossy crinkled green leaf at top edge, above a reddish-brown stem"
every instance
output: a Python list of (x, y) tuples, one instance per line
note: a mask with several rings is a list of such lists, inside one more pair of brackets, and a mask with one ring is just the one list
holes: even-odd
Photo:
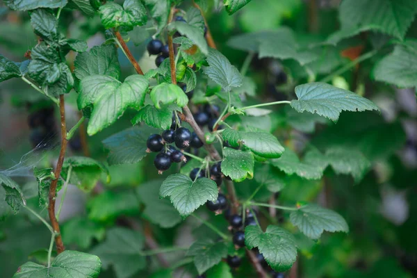
[(106, 29), (119, 26), (133, 28), (133, 26), (142, 26), (147, 22), (146, 9), (140, 0), (125, 0), (123, 7), (114, 2), (107, 2), (100, 6), (99, 13), (101, 23)]

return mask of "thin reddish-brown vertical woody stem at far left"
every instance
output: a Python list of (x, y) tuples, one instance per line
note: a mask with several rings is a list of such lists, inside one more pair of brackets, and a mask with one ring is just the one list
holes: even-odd
[(60, 152), (58, 157), (58, 162), (55, 167), (55, 179), (51, 181), (51, 186), (49, 186), (49, 205), (48, 205), (48, 214), (49, 220), (51, 220), (52, 229), (56, 233), (55, 245), (56, 252), (58, 254), (62, 253), (65, 250), (63, 238), (60, 235), (59, 223), (56, 220), (55, 215), (55, 201), (56, 201), (56, 186), (58, 184), (58, 179), (60, 177), (60, 172), (63, 169), (63, 163), (65, 158), (65, 151), (67, 149), (67, 124), (65, 123), (65, 101), (64, 95), (59, 96), (59, 113), (60, 113), (60, 130), (61, 130), (61, 145)]

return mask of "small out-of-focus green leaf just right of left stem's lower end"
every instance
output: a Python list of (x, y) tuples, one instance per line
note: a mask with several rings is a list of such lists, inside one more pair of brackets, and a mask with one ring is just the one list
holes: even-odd
[(65, 244), (76, 244), (85, 250), (92, 245), (93, 240), (104, 239), (106, 228), (88, 218), (76, 217), (65, 222), (61, 232)]

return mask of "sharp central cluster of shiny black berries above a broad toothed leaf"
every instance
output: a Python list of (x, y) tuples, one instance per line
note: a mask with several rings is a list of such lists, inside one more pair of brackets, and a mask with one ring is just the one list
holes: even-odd
[[(178, 122), (177, 122), (178, 120)], [(199, 140), (197, 134), (192, 133), (185, 127), (179, 127), (181, 120), (175, 115), (172, 115), (171, 128), (163, 131), (162, 135), (152, 134), (147, 139), (147, 152), (159, 152), (154, 160), (154, 165), (161, 174), (168, 170), (173, 162), (186, 162), (187, 158), (183, 155), (183, 150), (188, 147), (199, 148), (203, 146), (203, 142)], [(169, 144), (175, 143), (175, 147)]]

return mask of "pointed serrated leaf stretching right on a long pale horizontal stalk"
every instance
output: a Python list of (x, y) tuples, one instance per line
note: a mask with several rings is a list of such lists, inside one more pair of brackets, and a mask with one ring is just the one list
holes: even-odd
[(317, 113), (336, 122), (342, 111), (379, 111), (372, 101), (354, 92), (336, 88), (327, 83), (307, 83), (295, 87), (298, 100), (291, 107), (302, 113)]

